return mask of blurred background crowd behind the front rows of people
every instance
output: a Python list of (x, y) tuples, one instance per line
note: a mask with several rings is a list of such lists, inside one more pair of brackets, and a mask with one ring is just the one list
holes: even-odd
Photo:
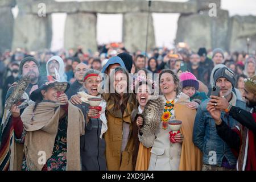
[[(7, 90), (13, 82), (18, 80), (20, 61), (27, 56), (34, 56), (41, 66), (40, 74), (47, 75), (46, 63), (54, 55), (59, 55), (64, 61), (65, 77), (71, 84), (75, 82), (75, 69), (77, 64), (85, 63), (86, 68), (101, 71), (110, 57), (119, 53), (128, 52), (122, 43), (106, 44), (98, 47), (98, 51), (88, 53), (78, 47), (76, 50), (61, 50), (58, 52), (38, 51), (28, 52), (22, 48), (14, 52), (6, 51), (0, 57), (0, 93), (2, 98), (2, 109), (5, 104)], [(155, 48), (151, 52), (137, 51), (129, 52), (133, 56), (133, 67), (131, 73), (138, 69), (147, 69), (150, 73), (160, 73), (163, 69), (171, 69), (179, 72), (180, 63), (186, 63), (189, 72), (196, 76), (197, 80), (203, 82), (208, 90), (212, 86), (210, 74), (217, 64), (223, 64), (231, 69), (236, 75), (236, 88), (243, 93), (243, 79), (255, 75), (255, 55), (248, 55), (246, 52), (226, 52), (222, 49), (210, 50), (200, 48), (193, 52), (188, 48)], [(208, 96), (210, 92), (207, 92)], [(3, 112), (0, 112), (3, 114)]]

